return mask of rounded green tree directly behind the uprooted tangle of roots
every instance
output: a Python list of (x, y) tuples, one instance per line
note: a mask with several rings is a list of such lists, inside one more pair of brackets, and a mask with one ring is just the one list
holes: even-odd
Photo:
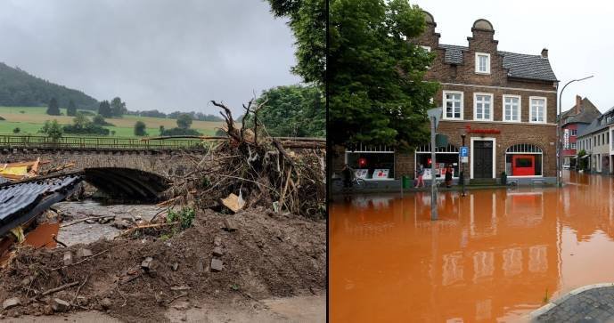
[[(257, 103), (265, 100), (265, 105), (258, 109), (258, 124), (264, 125), (268, 134), (280, 137), (326, 136), (326, 106), (319, 87), (278, 86), (263, 92)], [(246, 117), (245, 125), (253, 127), (253, 114)]]

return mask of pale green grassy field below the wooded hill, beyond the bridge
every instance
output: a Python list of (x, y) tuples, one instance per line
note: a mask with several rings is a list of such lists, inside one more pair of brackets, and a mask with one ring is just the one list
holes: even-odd
[[(13, 134), (12, 130), (16, 127), (20, 128), (20, 133), (18, 134), (37, 134), (46, 120), (55, 119), (58, 120), (58, 123), (61, 125), (69, 125), (72, 123), (73, 117), (65, 116), (66, 109), (61, 109), (61, 113), (64, 116), (49, 116), (45, 111), (46, 107), (0, 107), (0, 117), (4, 117), (5, 119), (0, 120), (0, 134)], [(105, 128), (108, 128), (111, 132), (115, 131), (113, 135), (115, 137), (135, 137), (134, 126), (137, 120), (141, 120), (147, 125), (147, 133), (149, 133), (150, 136), (157, 136), (160, 134), (160, 125), (164, 125), (167, 129), (176, 127), (175, 119), (161, 117), (136, 117), (126, 115), (121, 118), (108, 118), (106, 120), (113, 126), (105, 126)], [(204, 135), (213, 135), (220, 125), (222, 125), (220, 122), (194, 120), (192, 129), (196, 129)]]

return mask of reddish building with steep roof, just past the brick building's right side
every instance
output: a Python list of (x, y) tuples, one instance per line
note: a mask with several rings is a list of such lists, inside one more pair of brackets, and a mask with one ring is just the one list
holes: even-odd
[(561, 114), (563, 167), (577, 168), (577, 133), (584, 132), (602, 113), (588, 98), (576, 95), (576, 105)]

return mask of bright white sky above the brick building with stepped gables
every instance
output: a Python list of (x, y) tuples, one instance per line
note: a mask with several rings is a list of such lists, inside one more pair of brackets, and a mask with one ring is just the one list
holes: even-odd
[(565, 89), (562, 109), (575, 104), (576, 94), (600, 110), (614, 106), (614, 3), (585, 0), (411, 0), (437, 22), (439, 41), (467, 45), (471, 26), (484, 18), (495, 27), (499, 50), (539, 54), (548, 48), (561, 87), (571, 79), (594, 75)]

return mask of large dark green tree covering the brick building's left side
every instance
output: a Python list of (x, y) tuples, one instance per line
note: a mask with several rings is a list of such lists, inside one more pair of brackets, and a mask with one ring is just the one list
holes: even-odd
[(428, 140), (438, 84), (423, 77), (434, 54), (407, 39), (424, 13), (406, 0), (331, 0), (329, 126), (333, 144), (411, 149)]

